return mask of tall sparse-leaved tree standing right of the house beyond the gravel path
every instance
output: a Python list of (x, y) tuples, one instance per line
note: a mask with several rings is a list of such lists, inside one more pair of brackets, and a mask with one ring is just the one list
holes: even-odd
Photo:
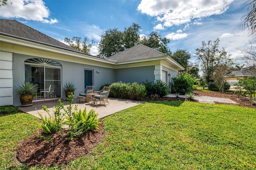
[(219, 43), (219, 39), (210, 40), (207, 43), (203, 41), (202, 47), (196, 49), (196, 57), (201, 65), (201, 70), (207, 83), (213, 81), (210, 76), (214, 73), (218, 65), (230, 66), (233, 64), (230, 54), (223, 47), (219, 49)]

